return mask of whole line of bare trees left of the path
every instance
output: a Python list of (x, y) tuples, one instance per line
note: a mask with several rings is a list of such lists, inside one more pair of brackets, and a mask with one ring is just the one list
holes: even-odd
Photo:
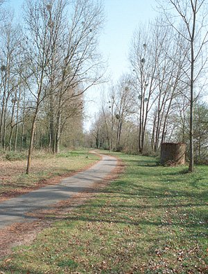
[(83, 95), (102, 77), (103, 6), (26, 0), (18, 24), (3, 1), (1, 11), (0, 146), (28, 149), (29, 173), (34, 147), (58, 153), (67, 136), (83, 134)]

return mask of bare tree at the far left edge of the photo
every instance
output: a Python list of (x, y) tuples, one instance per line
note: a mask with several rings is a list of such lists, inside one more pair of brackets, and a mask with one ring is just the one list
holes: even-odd
[[(17, 103), (17, 88), (19, 85), (16, 73), (16, 56), (19, 53), (19, 28), (3, 24), (1, 28), (1, 120), (0, 136), (3, 149), (6, 149), (6, 135), (10, 129), (9, 149), (11, 149), (12, 131), (15, 127), (15, 108)], [(11, 117), (10, 117), (11, 111)], [(10, 120), (10, 122), (9, 122)]]

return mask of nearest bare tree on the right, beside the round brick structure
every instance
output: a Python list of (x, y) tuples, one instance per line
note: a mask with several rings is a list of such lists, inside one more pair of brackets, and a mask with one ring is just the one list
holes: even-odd
[(208, 42), (207, 3), (205, 0), (168, 0), (168, 7), (171, 7), (172, 13), (165, 7), (166, 5), (160, 5), (164, 11), (166, 22), (184, 39), (181, 46), (186, 45), (187, 47), (187, 43), (189, 45), (187, 54), (189, 70), (184, 72), (189, 82), (189, 172), (193, 172), (193, 108), (197, 97), (196, 83), (207, 63), (207, 56), (204, 55)]

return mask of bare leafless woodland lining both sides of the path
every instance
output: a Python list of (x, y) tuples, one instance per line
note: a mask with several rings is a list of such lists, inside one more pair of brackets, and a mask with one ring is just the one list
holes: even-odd
[[(207, 163), (207, 2), (158, 1), (158, 17), (130, 42), (130, 70), (114, 83), (98, 50), (101, 1), (26, 0), (22, 18), (1, 0), (2, 154), (96, 147), (158, 155), (161, 143), (187, 144)], [(133, 30), (132, 30), (133, 31)], [(85, 132), (85, 92), (105, 83)]]

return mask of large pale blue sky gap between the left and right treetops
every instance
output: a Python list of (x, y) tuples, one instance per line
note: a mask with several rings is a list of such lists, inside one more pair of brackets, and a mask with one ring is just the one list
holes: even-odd
[(107, 22), (101, 35), (101, 51), (108, 58), (113, 80), (128, 69), (128, 51), (133, 32), (153, 19), (155, 0), (104, 0)]

